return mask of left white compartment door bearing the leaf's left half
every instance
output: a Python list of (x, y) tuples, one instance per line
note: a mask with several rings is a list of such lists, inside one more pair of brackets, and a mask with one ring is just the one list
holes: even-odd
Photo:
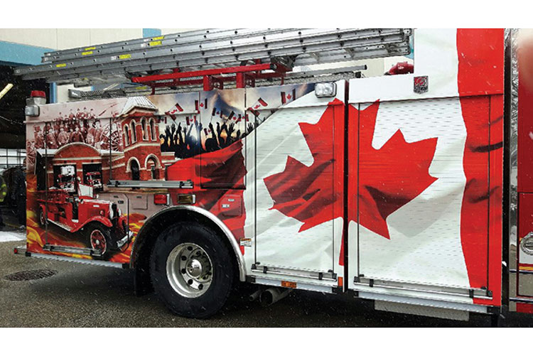
[[(277, 103), (287, 92), (296, 100)], [(299, 106), (298, 100), (306, 104)], [(262, 101), (268, 106), (255, 105), (259, 112), (254, 103)], [(249, 117), (257, 126), (256, 269), (311, 278), (317, 273), (333, 277), (336, 271), (343, 229), (344, 103), (328, 105), (332, 101), (319, 102), (307, 86), (247, 93)]]

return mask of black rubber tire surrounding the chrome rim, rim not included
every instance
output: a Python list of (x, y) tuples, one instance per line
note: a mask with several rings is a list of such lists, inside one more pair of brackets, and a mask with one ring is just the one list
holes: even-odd
[[(200, 296), (182, 296), (167, 277), (167, 259), (182, 244), (201, 247), (210, 259), (210, 285)], [(235, 281), (235, 261), (223, 239), (198, 222), (179, 222), (163, 231), (150, 258), (152, 284), (168, 309), (187, 318), (209, 318), (225, 305)]]

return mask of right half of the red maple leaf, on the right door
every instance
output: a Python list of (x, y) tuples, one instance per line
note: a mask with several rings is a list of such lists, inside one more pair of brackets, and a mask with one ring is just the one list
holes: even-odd
[[(358, 110), (352, 105), (349, 109), (350, 117), (357, 117)], [(380, 149), (374, 149), (378, 109), (379, 102), (375, 102), (359, 112), (359, 220), (388, 239), (387, 217), (437, 180), (429, 175), (437, 139), (407, 143), (398, 130)], [(357, 221), (356, 212), (349, 218)]]

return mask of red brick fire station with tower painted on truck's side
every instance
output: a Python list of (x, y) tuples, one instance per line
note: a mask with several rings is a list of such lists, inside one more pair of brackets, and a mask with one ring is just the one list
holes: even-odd
[[(120, 140), (117, 145), (102, 149), (75, 141), (55, 149), (38, 149), (36, 174), (46, 166), (48, 188), (60, 188), (60, 180), (66, 179), (61, 167), (66, 166), (73, 167), (71, 170), (81, 183), (95, 188), (102, 188), (111, 179), (164, 180), (163, 164), (168, 158), (163, 161), (161, 154), (157, 112), (146, 97), (130, 97), (122, 112), (107, 126), (111, 128), (107, 136)], [(117, 151), (116, 147), (122, 150)], [(45, 189), (43, 179), (40, 183), (39, 188)]]

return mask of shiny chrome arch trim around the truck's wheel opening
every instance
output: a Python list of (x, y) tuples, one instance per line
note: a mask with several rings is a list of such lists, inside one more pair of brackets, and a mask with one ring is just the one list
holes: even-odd
[(244, 256), (241, 253), (241, 249), (239, 247), (239, 244), (237, 244), (237, 239), (235, 239), (235, 236), (232, 234), (230, 229), (227, 228), (227, 226), (224, 224), (224, 222), (222, 222), (212, 212), (208, 212), (208, 210), (202, 209), (201, 207), (195, 207), (195, 206), (192, 206), (192, 205), (176, 205), (176, 206), (172, 206), (172, 207), (166, 207), (165, 209), (159, 210), (158, 212), (156, 212), (156, 214), (152, 215), (149, 218), (149, 220), (146, 220), (146, 222), (144, 222), (144, 225), (141, 227), (141, 230), (139, 230), (139, 232), (137, 233), (136, 238), (134, 239), (133, 245), (131, 246), (131, 255), (130, 255), (130, 262), (129, 262), (131, 267), (134, 267), (134, 264), (135, 264), (134, 259), (135, 259), (136, 246), (137, 246), (136, 242), (139, 241), (139, 239), (137, 237), (141, 236), (141, 234), (144, 231), (144, 227), (146, 227), (146, 225), (148, 225), (148, 223), (151, 220), (154, 220), (159, 215), (162, 215), (162, 214), (164, 214), (166, 212), (169, 212), (169, 211), (172, 211), (172, 210), (189, 210), (189, 211), (192, 211), (192, 212), (196, 212), (196, 213), (198, 213), (200, 215), (203, 215), (203, 216), (207, 217), (209, 220), (211, 220), (212, 222), (215, 222), (217, 227), (220, 227), (220, 230), (222, 230), (222, 232), (224, 232), (225, 237), (230, 241), (230, 244), (232, 245), (232, 248), (233, 248), (233, 252), (235, 252), (235, 255), (237, 256), (237, 264), (239, 266), (239, 279), (240, 279), (240, 281), (242, 281), (242, 282), (246, 281), (246, 264), (244, 262)]

